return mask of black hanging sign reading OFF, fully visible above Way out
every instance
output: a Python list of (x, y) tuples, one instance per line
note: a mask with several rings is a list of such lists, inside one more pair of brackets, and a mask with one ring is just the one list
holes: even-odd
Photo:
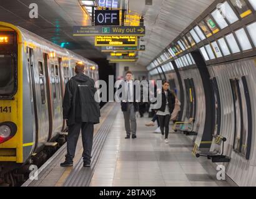
[(113, 10), (96, 10), (95, 11), (95, 25), (120, 25), (120, 12)]

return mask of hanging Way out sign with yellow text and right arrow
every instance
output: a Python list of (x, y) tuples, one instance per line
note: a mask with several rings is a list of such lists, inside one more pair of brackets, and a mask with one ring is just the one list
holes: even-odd
[(73, 36), (133, 35), (144, 36), (145, 26), (74, 26)]

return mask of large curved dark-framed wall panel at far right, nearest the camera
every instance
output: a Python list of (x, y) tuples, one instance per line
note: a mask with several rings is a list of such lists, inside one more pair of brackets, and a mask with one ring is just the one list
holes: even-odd
[(252, 110), (247, 80), (245, 76), (234, 78), (230, 80), (230, 85), (235, 117), (233, 149), (249, 160), (252, 142)]

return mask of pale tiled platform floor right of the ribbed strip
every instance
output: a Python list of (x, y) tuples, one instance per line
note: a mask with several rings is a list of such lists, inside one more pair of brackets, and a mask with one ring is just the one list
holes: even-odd
[(217, 180), (210, 160), (192, 155), (187, 137), (170, 134), (165, 144), (160, 134), (153, 133), (155, 127), (145, 127), (147, 121), (137, 119), (137, 139), (124, 139), (124, 119), (118, 111), (90, 186), (230, 186)]

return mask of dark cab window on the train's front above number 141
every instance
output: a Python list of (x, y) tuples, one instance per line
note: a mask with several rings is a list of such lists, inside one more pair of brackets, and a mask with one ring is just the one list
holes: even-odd
[(0, 55), (0, 96), (13, 96), (16, 93), (16, 58), (13, 55)]

